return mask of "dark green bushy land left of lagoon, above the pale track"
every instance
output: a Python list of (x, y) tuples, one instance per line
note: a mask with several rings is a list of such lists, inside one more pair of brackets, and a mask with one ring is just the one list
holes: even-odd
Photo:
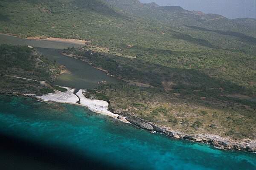
[(51, 62), (35, 49), (20, 45), (0, 45), (0, 73), (29, 79), (52, 81), (59, 73), (58, 63)]

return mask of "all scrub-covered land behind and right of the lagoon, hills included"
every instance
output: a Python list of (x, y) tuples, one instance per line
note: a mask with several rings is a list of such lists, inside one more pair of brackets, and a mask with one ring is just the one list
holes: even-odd
[(128, 81), (85, 94), (114, 111), (186, 133), (256, 139), (255, 19), (138, 0), (2, 0), (0, 21), (0, 32), (19, 37), (87, 40), (63, 52)]

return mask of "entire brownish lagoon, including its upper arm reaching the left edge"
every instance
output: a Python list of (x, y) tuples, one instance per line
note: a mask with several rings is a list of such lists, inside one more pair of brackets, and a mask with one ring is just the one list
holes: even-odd
[(0, 44), (12, 45), (30, 45), (36, 48), (45, 57), (56, 60), (61, 65), (65, 65), (69, 73), (61, 74), (56, 85), (68, 86), (76, 89), (96, 88), (98, 82), (105, 80), (107, 82), (117, 83), (119, 80), (108, 76), (105, 72), (91, 67), (85, 62), (66, 57), (61, 54), (61, 50), (68, 47), (80, 47), (78, 44), (68, 42), (53, 42), (47, 40), (27, 40), (18, 37), (12, 37), (0, 34)]

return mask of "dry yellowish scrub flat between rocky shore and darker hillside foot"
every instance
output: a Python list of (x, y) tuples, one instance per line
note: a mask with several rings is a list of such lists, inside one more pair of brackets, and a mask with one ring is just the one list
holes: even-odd
[[(90, 97), (90, 92), (85, 96)], [(256, 102), (247, 99), (165, 91), (127, 83), (100, 85), (93, 90), (92, 94), (95, 93), (108, 97), (113, 112), (132, 113), (184, 133), (256, 139)]]

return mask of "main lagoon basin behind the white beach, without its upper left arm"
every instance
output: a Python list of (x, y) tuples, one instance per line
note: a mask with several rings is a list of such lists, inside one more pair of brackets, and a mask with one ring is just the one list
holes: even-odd
[(61, 54), (61, 50), (51, 48), (36, 48), (47, 58), (56, 60), (61, 65), (65, 65), (68, 73), (61, 74), (55, 82), (57, 85), (68, 86), (78, 89), (93, 89), (99, 81), (117, 83), (118, 80), (108, 76), (105, 72), (97, 70), (85, 62), (66, 57)]

